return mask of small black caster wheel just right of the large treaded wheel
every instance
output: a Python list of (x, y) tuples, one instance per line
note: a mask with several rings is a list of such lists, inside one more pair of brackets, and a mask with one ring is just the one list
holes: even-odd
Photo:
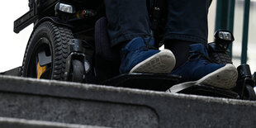
[(73, 59), (71, 73), (73, 82), (82, 83), (84, 74), (83, 63), (77, 59)]

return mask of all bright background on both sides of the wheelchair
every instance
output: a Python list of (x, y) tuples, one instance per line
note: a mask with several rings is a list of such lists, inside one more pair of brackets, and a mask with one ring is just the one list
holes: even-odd
[[(225, 0), (223, 0), (225, 1)], [(14, 4), (15, 2), (15, 4)], [(209, 11), (209, 42), (213, 41), (216, 28), (216, 0), (213, 0)], [(13, 21), (28, 12), (28, 0), (0, 1), (0, 72), (21, 66), (26, 43), (31, 35), (33, 26), (26, 27), (19, 34), (13, 32)], [(244, 18), (244, 0), (235, 0), (235, 19), (233, 43), (233, 62), (241, 64), (242, 35)], [(256, 0), (250, 2), (249, 38), (247, 64), (251, 72), (256, 71)]]

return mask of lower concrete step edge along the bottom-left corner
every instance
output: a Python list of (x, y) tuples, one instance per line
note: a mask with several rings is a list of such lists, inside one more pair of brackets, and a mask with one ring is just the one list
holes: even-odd
[(0, 117), (0, 126), (6, 128), (107, 128), (102, 126), (73, 125), (51, 121), (34, 121), (7, 117)]

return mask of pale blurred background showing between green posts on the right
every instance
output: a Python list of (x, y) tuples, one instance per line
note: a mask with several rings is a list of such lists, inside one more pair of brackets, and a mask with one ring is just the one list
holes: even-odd
[[(213, 41), (213, 35), (216, 28), (216, 3), (217, 0), (213, 0), (210, 12), (209, 12), (209, 42)], [(221, 1), (221, 0), (219, 0)], [(222, 0), (228, 1), (228, 0)], [(230, 0), (232, 1), (232, 0)], [(235, 41), (232, 47), (232, 61), (235, 66), (239, 66), (242, 55), (242, 39), (243, 39), (243, 23), (244, 23), (244, 3), (245, 0), (235, 1), (235, 13), (234, 13), (234, 36)], [(248, 1), (249, 2), (249, 1)], [(256, 0), (250, 0), (249, 6), (249, 35), (248, 35), (248, 50), (247, 50), (247, 64), (249, 64), (251, 72), (256, 71)]]

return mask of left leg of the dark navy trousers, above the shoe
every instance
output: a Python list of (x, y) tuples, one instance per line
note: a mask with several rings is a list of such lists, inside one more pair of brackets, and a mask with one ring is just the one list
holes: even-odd
[(111, 45), (150, 34), (146, 0), (105, 0)]

